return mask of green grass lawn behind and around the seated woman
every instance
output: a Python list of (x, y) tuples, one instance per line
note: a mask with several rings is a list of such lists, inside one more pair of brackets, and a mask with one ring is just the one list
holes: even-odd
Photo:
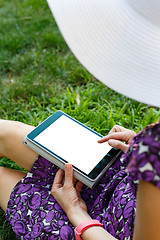
[[(65, 44), (45, 0), (0, 1), (0, 116), (37, 126), (56, 110), (105, 135), (136, 132), (158, 108), (115, 93), (90, 75)], [(20, 169), (7, 158), (0, 166)], [(16, 239), (0, 210), (0, 239)]]

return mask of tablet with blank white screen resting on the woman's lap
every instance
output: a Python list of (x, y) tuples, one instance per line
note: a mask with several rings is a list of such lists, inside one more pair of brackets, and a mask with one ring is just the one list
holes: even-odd
[(75, 177), (92, 187), (120, 153), (107, 142), (98, 143), (101, 137), (71, 116), (57, 111), (29, 133), (24, 144), (63, 169), (65, 163), (71, 163)]

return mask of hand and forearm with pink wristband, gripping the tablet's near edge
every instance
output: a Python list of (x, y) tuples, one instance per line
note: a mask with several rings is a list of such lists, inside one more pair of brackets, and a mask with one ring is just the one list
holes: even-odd
[[(70, 222), (74, 227), (79, 224), (91, 220), (87, 213), (87, 206), (80, 197), (82, 183), (78, 182), (76, 188), (73, 185), (73, 168), (68, 163), (65, 165), (65, 181), (64, 172), (60, 169), (55, 176), (51, 193), (57, 202), (61, 205), (67, 214)], [(93, 226), (86, 229), (81, 238), (83, 240), (115, 240), (103, 227)]]

